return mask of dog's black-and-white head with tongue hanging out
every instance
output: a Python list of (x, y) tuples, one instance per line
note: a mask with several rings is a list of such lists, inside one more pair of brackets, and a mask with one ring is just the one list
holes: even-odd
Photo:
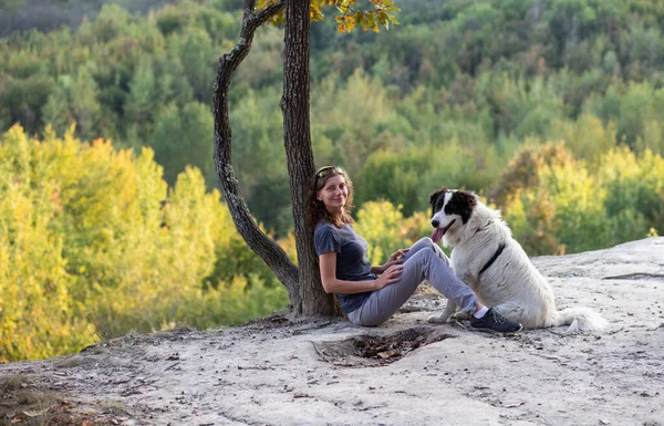
[(440, 188), (429, 198), (432, 226), (435, 228), (432, 240), (438, 242), (445, 232), (464, 226), (477, 205), (477, 196), (467, 190)]

